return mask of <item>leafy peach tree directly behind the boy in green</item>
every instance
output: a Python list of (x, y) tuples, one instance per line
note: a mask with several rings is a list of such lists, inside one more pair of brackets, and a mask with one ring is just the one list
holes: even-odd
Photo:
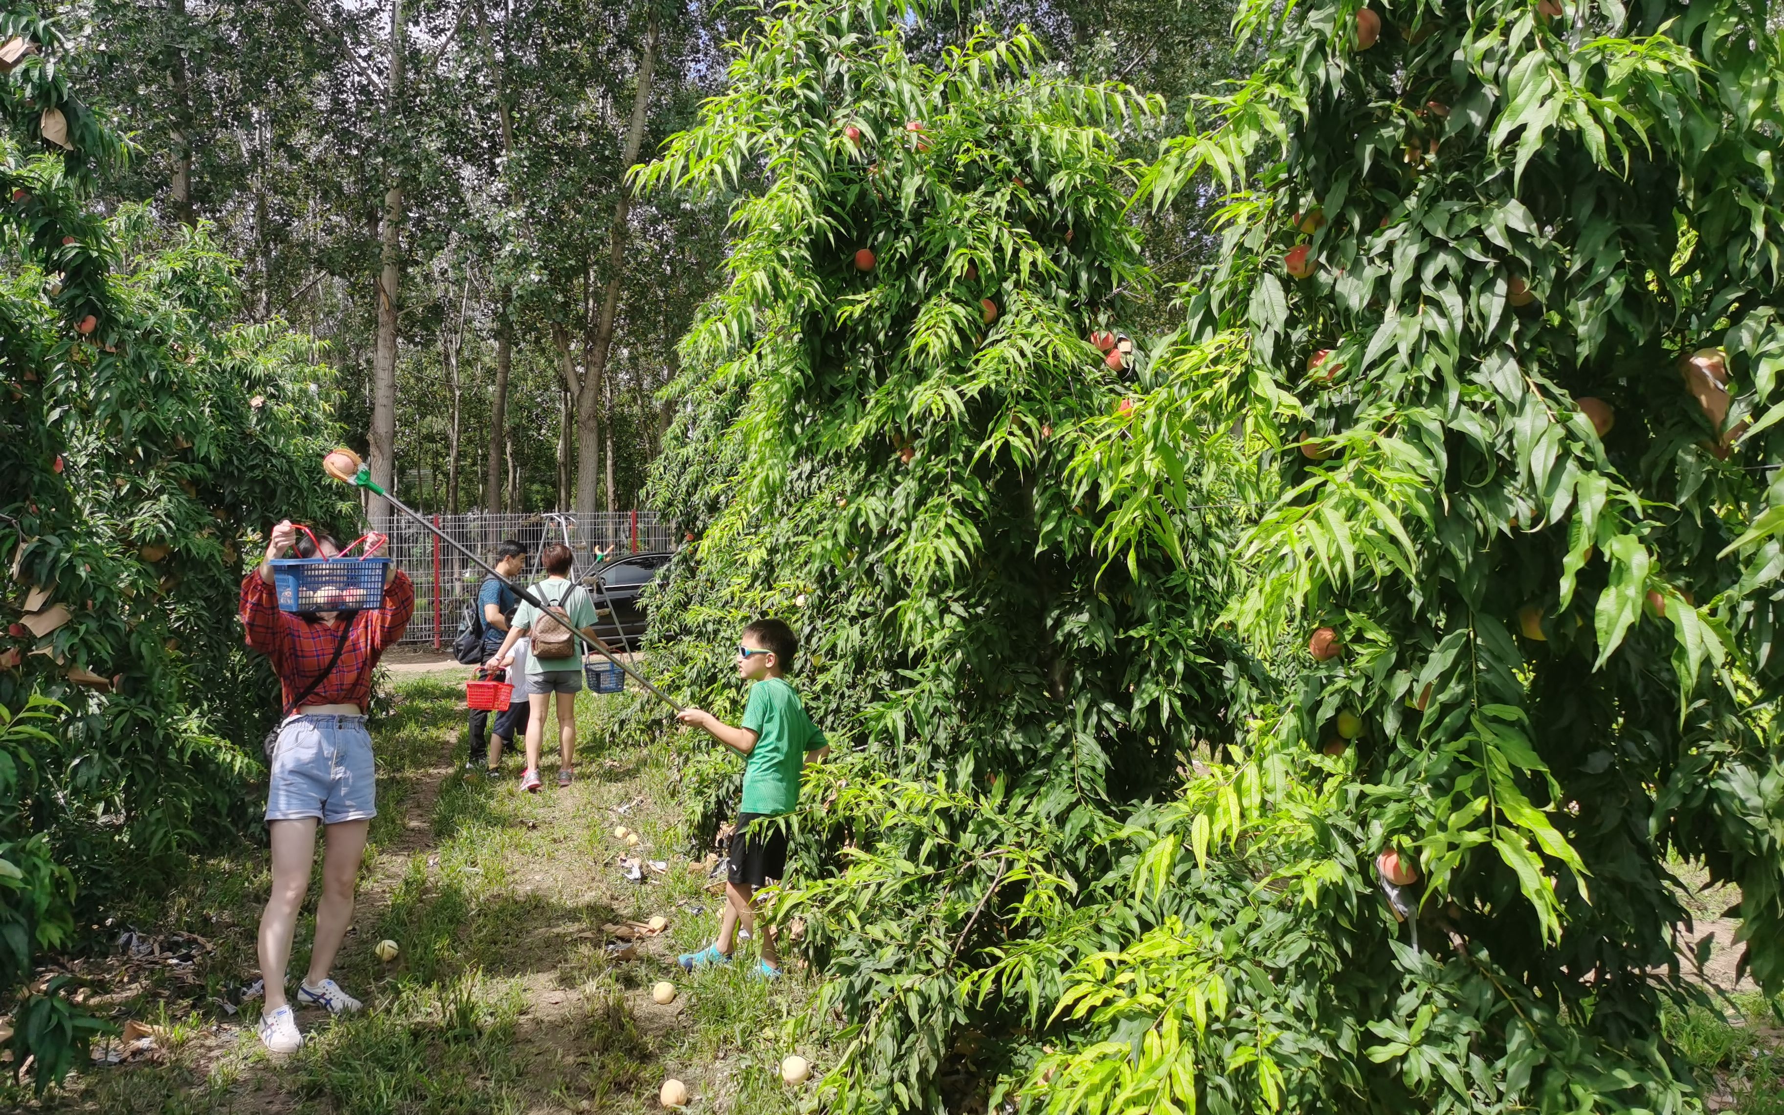
[[(796, 4), (642, 173), (742, 194), (657, 469), (690, 544), (651, 664), (735, 715), (740, 624), (803, 632), (796, 680), (849, 746), (792, 819), (778, 917), (828, 974), (812, 1020), (846, 1024), (838, 1110), (958, 1110), (1031, 1065), (1029, 1003), (1065, 965), (987, 994), (987, 949), (1038, 938), (1024, 912), (1072, 921), (1117, 872), (1104, 837), (1270, 685), (1215, 630), (1231, 516), (1151, 489), (1243, 501), (1242, 446), (1131, 435), (1172, 421), (1122, 334), (1151, 282), (1124, 145), (1158, 127), (1156, 100), (1070, 80), (1026, 32)], [(737, 765), (703, 753), (683, 780), (710, 833)], [(1079, 928), (1103, 946), (1126, 921)]]

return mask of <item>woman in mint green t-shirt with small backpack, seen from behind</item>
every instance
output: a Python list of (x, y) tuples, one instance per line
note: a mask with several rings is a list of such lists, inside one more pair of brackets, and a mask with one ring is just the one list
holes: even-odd
[[(578, 632), (592, 635), (596, 621), (594, 601), (589, 599), (587, 589), (566, 576), (571, 560), (569, 546), (562, 542), (546, 546), (544, 553), (539, 555), (539, 562), (546, 567), (546, 580), (533, 585), (533, 596), (569, 615), (571, 624)], [(537, 635), (532, 633), (533, 628), (539, 628)], [(576, 644), (576, 637), (569, 635), (569, 655), (546, 658), (539, 653), (539, 644), (541, 639), (549, 640), (553, 635), (569, 635), (564, 630), (564, 621), (557, 615), (546, 615), (523, 599), (521, 607), (514, 612), (514, 619), (508, 623), (508, 637), (501, 640), (501, 649), (489, 660), (489, 665), (507, 669), (516, 640), (521, 637), (532, 639), (532, 653), (526, 657), (526, 676), (517, 680), (517, 683), (526, 685), (528, 701), (526, 769), (521, 772), (521, 789), (532, 794), (537, 794), (541, 785), (539, 749), (544, 746), (546, 708), (553, 701), (551, 694), (557, 694), (558, 712), (560, 787), (569, 785), (576, 765), (576, 694), (582, 692), (582, 648)]]

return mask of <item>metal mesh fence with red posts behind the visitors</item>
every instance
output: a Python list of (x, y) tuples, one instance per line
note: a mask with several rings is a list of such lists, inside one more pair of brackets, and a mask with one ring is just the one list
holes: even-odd
[[(523, 582), (539, 576), (539, 551), (548, 542), (567, 542), (576, 555), (576, 573), (633, 553), (662, 553), (680, 546), (669, 526), (653, 512), (598, 512), (592, 519), (571, 514), (526, 516), (428, 516), (448, 539), (494, 566), (496, 546), (514, 539), (526, 548)], [(483, 571), (405, 516), (391, 523), (389, 553), (416, 583), (416, 617), (403, 644), (450, 648), (458, 633), (464, 607), (476, 601)]]

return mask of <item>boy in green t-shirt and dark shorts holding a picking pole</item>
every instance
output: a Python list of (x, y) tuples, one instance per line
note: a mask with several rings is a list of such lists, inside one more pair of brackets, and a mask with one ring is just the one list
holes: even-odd
[[(799, 639), (778, 619), (758, 619), (744, 628), (737, 648), (737, 673), (755, 681), (744, 723), (737, 728), (723, 723), (703, 708), (683, 708), (683, 724), (703, 728), (712, 739), (744, 756), (744, 799), (737, 806), (737, 824), (731, 828), (730, 881), (724, 887), (724, 921), (719, 938), (699, 953), (685, 953), (681, 967), (694, 970), (706, 963), (731, 962), (731, 935), (737, 922), (755, 931), (756, 917), (751, 903), (756, 887), (780, 880), (787, 869), (787, 831), (780, 826), (756, 824), (758, 819), (790, 814), (799, 805), (799, 776), (805, 764), (830, 753), (824, 733), (805, 715), (799, 694), (783, 674), (792, 669)], [(760, 974), (780, 976), (780, 956), (774, 953), (774, 929), (762, 928)]]

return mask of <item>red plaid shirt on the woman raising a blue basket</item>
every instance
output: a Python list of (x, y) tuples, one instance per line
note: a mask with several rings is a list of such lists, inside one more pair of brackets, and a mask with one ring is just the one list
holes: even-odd
[[(371, 667), (387, 646), (394, 646), (416, 612), (416, 587), (401, 569), (384, 587), (384, 605), (376, 612), (353, 615), (351, 633), (341, 648), (341, 662), (316, 692), (303, 699), (309, 705), (359, 705), (366, 710), (371, 699)], [(301, 615), (278, 610), (278, 594), (260, 580), (255, 569), (241, 582), (241, 623), (248, 628), (248, 648), (273, 660), (273, 673), (284, 687), (284, 708), (301, 694), (328, 660), (341, 639), (341, 621), (307, 623)], [(296, 710), (293, 710), (296, 712)]]

